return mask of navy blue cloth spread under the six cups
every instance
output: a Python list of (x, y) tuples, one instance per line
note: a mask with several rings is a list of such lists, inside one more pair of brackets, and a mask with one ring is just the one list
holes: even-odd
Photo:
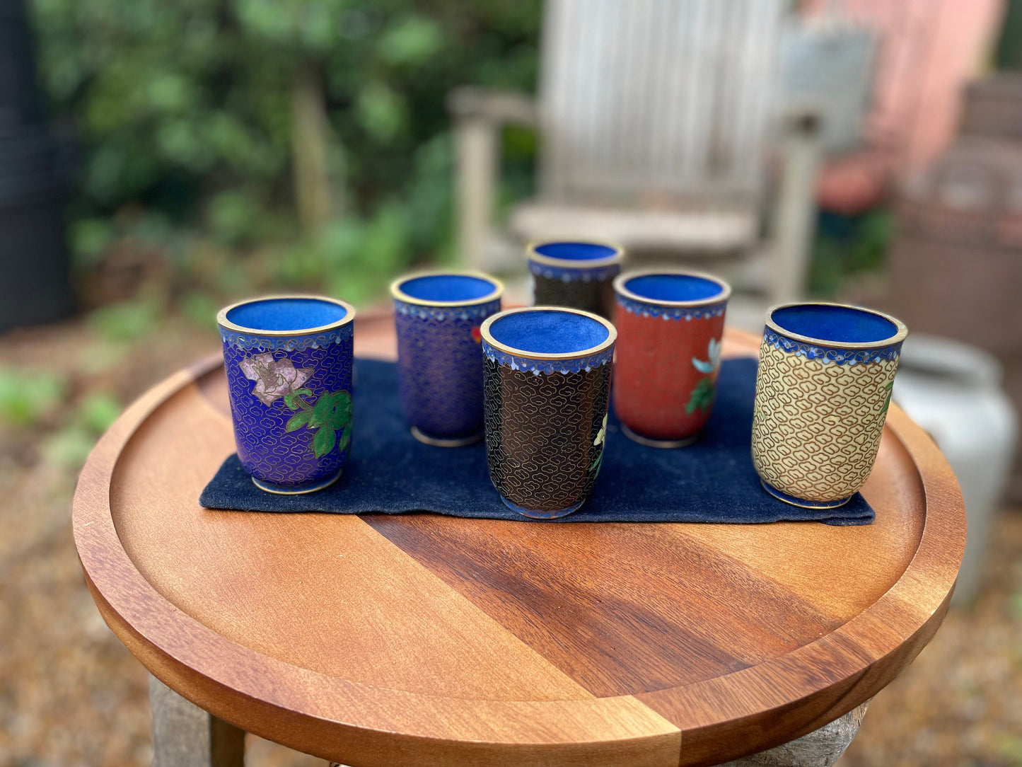
[[(387, 362), (356, 360), (352, 454), (337, 484), (309, 495), (271, 495), (252, 485), (232, 455), (199, 502), (249, 511), (433, 511), (533, 522), (501, 502), (482, 443), (438, 448), (416, 442), (398, 404), (396, 369)], [(551, 522), (873, 522), (873, 509), (858, 494), (840, 508), (817, 510), (782, 503), (760, 487), (749, 450), (755, 377), (754, 360), (723, 363), (713, 414), (691, 447), (638, 445), (621, 434), (611, 414), (592, 496), (575, 513)]]

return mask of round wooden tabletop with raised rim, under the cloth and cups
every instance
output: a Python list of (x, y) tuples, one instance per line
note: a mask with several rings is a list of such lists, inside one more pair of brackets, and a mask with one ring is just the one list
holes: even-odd
[[(393, 356), (389, 318), (356, 328), (357, 354)], [(173, 690), (359, 767), (675, 767), (791, 740), (923, 648), (965, 544), (955, 479), (897, 407), (865, 527), (202, 508), (233, 450), (216, 359), (132, 405), (75, 497), (89, 588)]]

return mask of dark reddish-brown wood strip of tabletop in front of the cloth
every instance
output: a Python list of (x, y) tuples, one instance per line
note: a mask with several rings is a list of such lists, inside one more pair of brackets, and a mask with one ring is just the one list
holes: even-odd
[(839, 624), (671, 525), (367, 522), (601, 697), (738, 671)]

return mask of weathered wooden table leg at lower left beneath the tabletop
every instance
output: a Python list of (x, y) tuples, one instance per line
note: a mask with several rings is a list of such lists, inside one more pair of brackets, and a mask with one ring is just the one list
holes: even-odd
[(152, 767), (243, 767), (245, 733), (189, 703), (154, 676)]

